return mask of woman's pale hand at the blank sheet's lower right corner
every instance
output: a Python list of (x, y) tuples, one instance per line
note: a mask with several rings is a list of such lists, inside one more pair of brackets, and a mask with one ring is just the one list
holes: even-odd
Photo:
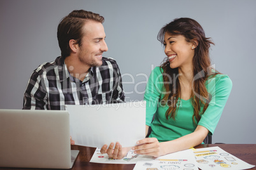
[(132, 150), (135, 150), (134, 154), (150, 155), (153, 157), (164, 155), (157, 138), (145, 138), (137, 141), (137, 144), (136, 147), (132, 147)]

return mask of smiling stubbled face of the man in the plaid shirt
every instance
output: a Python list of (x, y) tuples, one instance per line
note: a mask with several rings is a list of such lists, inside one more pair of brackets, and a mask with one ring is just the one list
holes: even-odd
[(85, 34), (78, 51), (80, 62), (89, 67), (102, 65), (103, 52), (108, 51), (108, 46), (105, 42), (106, 34), (102, 23), (89, 20), (85, 22), (83, 32)]

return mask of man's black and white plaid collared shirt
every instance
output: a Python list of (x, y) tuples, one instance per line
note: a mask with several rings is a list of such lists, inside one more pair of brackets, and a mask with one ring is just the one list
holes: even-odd
[(125, 101), (117, 62), (103, 57), (103, 65), (90, 68), (80, 81), (69, 75), (62, 56), (32, 72), (24, 93), (23, 109), (65, 110), (65, 105)]

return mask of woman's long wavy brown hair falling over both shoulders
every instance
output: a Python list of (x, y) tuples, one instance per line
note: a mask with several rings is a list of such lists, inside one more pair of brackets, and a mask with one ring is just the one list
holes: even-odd
[[(162, 27), (157, 36), (157, 39), (162, 44), (164, 44), (164, 35), (166, 32), (172, 35), (182, 35), (187, 42), (192, 42), (196, 46), (192, 61), (194, 79), (190, 96), (194, 107), (193, 121), (194, 124), (196, 124), (196, 121), (199, 122), (201, 115), (204, 113), (211, 100), (211, 96), (205, 86), (206, 80), (209, 76), (218, 74), (215, 71), (212, 72), (213, 68), (211, 67), (209, 56), (210, 45), (214, 43), (210, 38), (205, 37), (201, 25), (191, 18), (178, 18)], [(181, 97), (178, 68), (171, 69), (169, 60), (164, 61), (160, 67), (163, 69), (162, 75), (164, 79), (164, 88), (166, 90), (162, 101), (169, 106), (166, 111), (166, 119), (171, 117), (175, 120), (175, 115), (178, 110), (178, 98)], [(201, 110), (201, 106), (204, 106), (203, 110)]]

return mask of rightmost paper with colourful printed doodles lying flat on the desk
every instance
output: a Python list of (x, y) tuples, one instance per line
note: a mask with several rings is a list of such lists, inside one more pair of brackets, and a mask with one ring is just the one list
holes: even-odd
[(199, 148), (193, 150), (197, 166), (200, 169), (250, 169), (255, 167), (238, 159), (220, 147)]

